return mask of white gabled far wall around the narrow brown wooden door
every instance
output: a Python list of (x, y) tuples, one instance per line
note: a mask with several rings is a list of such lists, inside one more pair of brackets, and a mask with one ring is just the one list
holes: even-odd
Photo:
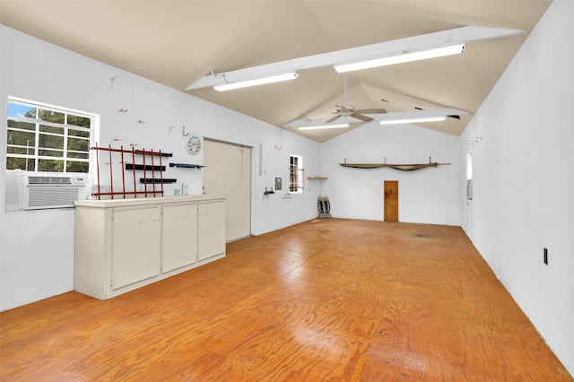
[[(334, 217), (384, 220), (384, 181), (398, 180), (399, 221), (460, 225), (458, 138), (419, 126), (366, 126), (323, 143), (324, 195)], [(451, 163), (401, 171), (337, 163)]]

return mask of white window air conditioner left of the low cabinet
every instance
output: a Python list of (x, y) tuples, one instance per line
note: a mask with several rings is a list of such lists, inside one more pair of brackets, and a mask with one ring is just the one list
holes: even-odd
[(85, 199), (87, 175), (8, 173), (5, 211), (74, 207)]

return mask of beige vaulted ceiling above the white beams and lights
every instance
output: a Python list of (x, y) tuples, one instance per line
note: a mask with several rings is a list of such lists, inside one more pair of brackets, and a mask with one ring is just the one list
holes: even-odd
[[(186, 91), (212, 71), (404, 39), (472, 25), (526, 33), (468, 44), (462, 55), (347, 74), (357, 109), (452, 108), (474, 113), (550, 1), (50, 1), (0, 0), (0, 22), (63, 48)], [(344, 103), (332, 67), (236, 91), (187, 91), (274, 126)], [(472, 114), (421, 124), (460, 135)], [(375, 122), (371, 122), (375, 123)], [(325, 142), (347, 129), (299, 131)]]

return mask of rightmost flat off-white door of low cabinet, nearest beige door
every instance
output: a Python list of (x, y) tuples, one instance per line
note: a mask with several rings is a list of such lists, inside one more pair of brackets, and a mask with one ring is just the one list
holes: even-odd
[(198, 213), (197, 258), (225, 253), (225, 201), (200, 203)]

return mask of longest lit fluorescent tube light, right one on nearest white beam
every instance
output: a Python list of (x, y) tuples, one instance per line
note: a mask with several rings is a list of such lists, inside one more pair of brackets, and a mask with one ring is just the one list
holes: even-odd
[(420, 51), (404, 51), (396, 56), (385, 56), (380, 58), (367, 58), (363, 61), (334, 65), (336, 73), (352, 72), (353, 70), (369, 69), (371, 67), (402, 64), (411, 61), (424, 60), (440, 56), (451, 56), (465, 51), (465, 44), (450, 45), (447, 47), (430, 48)]

